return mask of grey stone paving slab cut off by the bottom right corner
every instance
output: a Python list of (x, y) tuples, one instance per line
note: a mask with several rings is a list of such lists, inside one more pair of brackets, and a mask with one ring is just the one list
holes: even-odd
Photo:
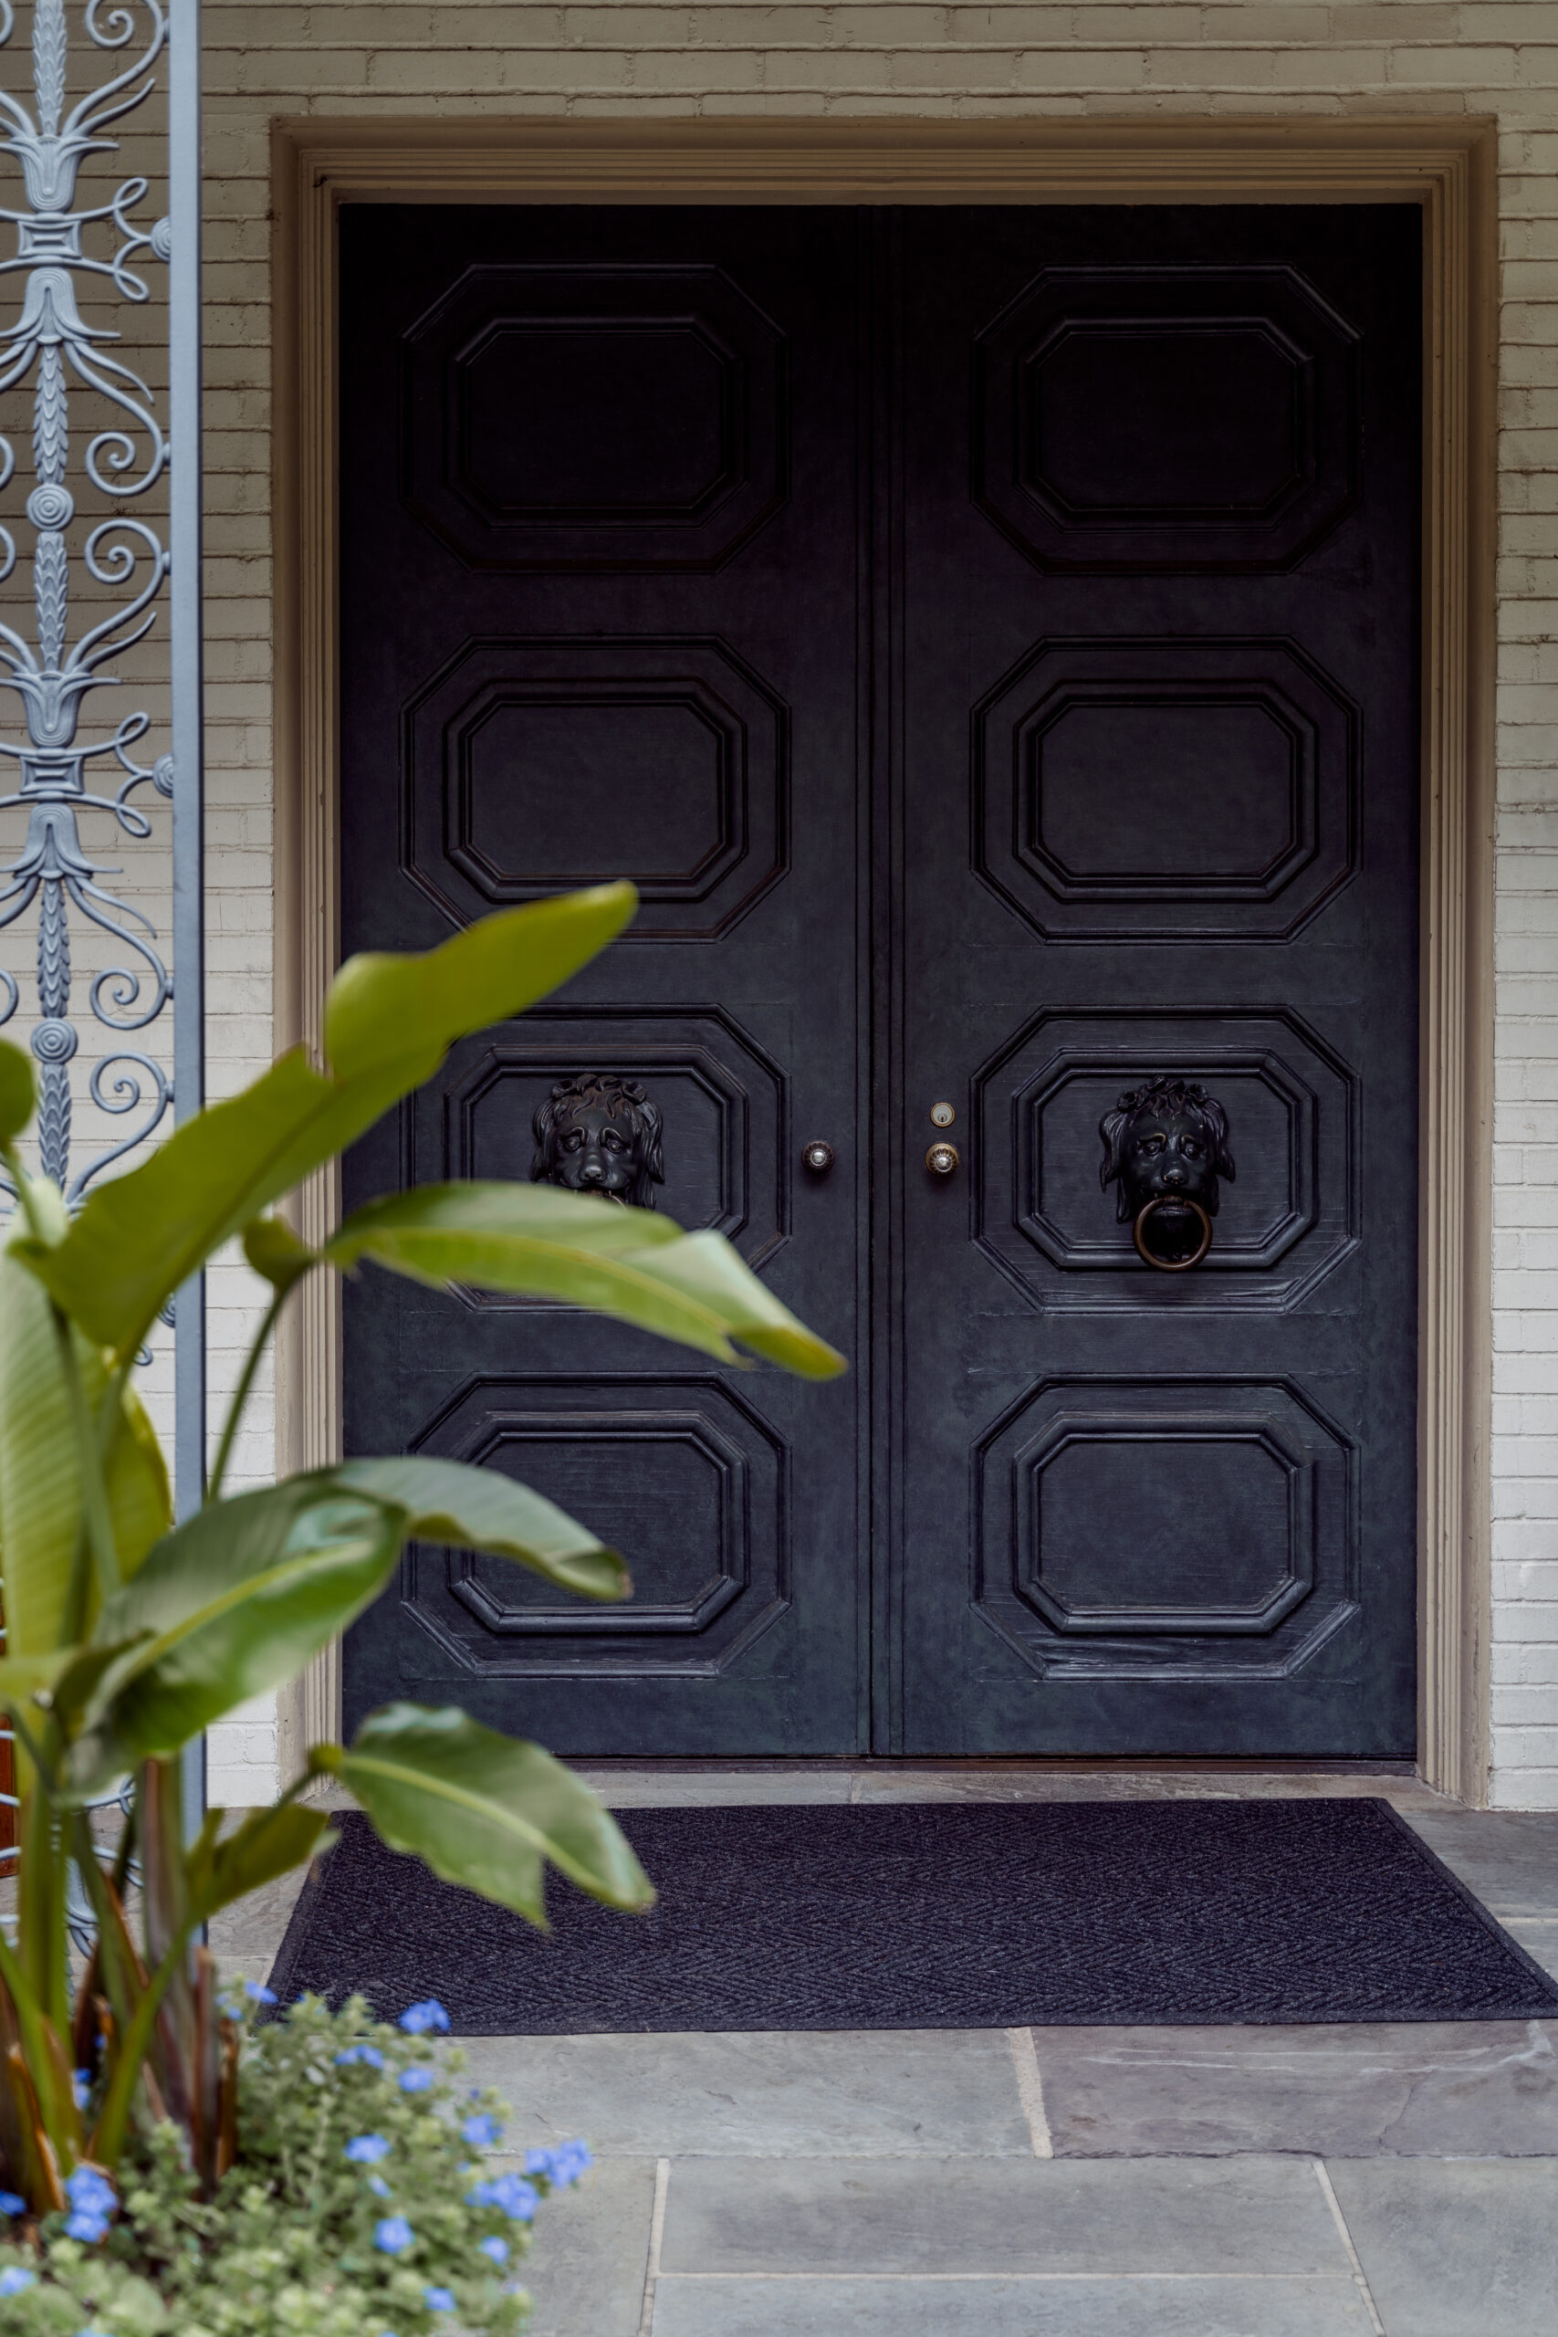
[(1334, 2159), (1387, 2337), (1558, 2337), (1558, 2159)]

